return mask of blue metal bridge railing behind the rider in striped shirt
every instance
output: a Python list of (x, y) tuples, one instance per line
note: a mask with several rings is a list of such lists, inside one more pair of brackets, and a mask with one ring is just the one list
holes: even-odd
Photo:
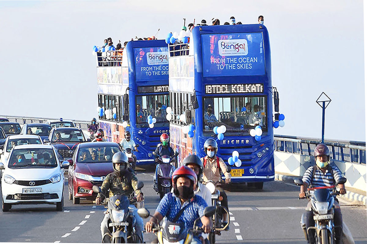
[[(313, 150), (321, 143), (320, 138), (274, 135), (274, 150), (313, 156)], [(330, 158), (366, 164), (366, 142), (347, 140), (324, 140), (330, 150)]]

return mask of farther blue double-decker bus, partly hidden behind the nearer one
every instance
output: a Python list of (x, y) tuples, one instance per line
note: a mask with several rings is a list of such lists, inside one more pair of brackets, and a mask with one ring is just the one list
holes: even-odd
[[(98, 56), (97, 63), (98, 105), (105, 111), (116, 108), (116, 119), (106, 113), (99, 117), (106, 139), (120, 143), (124, 132), (130, 131), (131, 139), (139, 144), (134, 153), (137, 166), (154, 164), (152, 151), (160, 135), (169, 132), (167, 44), (162, 40), (130, 41), (122, 56), (111, 51)], [(155, 118), (154, 127), (149, 126), (148, 116)]]

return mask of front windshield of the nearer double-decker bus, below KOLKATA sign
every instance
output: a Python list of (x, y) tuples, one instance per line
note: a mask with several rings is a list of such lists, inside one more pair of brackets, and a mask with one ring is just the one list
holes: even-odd
[(267, 130), (266, 97), (205, 97), (204, 131), (225, 125), (227, 131), (244, 131), (260, 125)]

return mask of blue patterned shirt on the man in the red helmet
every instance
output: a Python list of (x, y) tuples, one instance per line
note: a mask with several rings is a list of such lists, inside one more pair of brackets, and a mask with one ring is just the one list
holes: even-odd
[[(156, 211), (163, 217), (167, 217), (169, 221), (173, 221), (181, 207), (184, 207), (187, 204), (190, 205), (183, 210), (183, 213), (178, 218), (177, 222), (184, 222), (186, 224), (186, 229), (191, 229), (194, 225), (195, 219), (203, 216), (204, 209), (208, 206), (201, 196), (195, 195), (192, 202), (186, 201), (181, 206), (181, 200), (177, 198), (174, 193), (168, 192), (159, 202)], [(201, 222), (198, 222), (197, 225), (200, 226), (199, 223)]]

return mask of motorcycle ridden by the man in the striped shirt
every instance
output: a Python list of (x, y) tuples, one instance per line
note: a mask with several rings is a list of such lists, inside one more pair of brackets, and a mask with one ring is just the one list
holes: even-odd
[[(336, 184), (344, 184), (345, 178), (341, 178)], [(302, 180), (295, 179), (294, 183), (298, 186), (303, 185)], [(311, 201), (311, 211), (315, 226), (306, 229), (306, 216), (302, 214), (301, 228), (308, 240), (310, 229), (315, 229), (315, 240), (318, 244), (334, 244), (335, 243), (335, 226), (334, 226), (334, 196), (339, 195), (335, 185), (330, 187), (313, 187), (308, 188), (306, 197)], [(301, 199), (301, 198), (298, 198)]]

